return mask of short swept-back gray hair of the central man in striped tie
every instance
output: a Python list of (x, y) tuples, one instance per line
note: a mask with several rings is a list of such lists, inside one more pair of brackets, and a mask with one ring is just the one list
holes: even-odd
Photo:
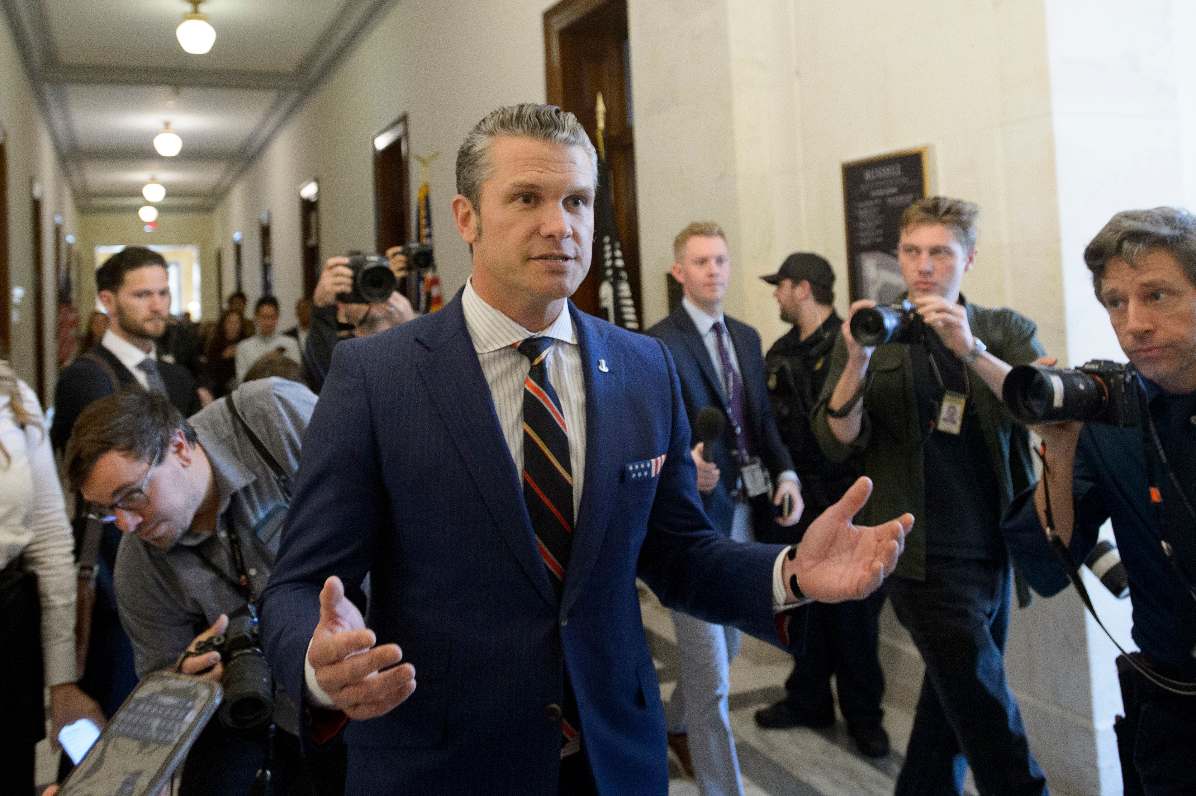
[(457, 192), (468, 198), (475, 209), (482, 183), (494, 172), (490, 142), (502, 136), (581, 147), (590, 155), (594, 184), (598, 184), (598, 153), (576, 116), (556, 105), (507, 105), (490, 111), (475, 124), (457, 151)]

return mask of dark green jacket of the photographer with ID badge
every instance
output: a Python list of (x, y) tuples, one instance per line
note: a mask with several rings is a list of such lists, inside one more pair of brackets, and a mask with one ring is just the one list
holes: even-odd
[[(988, 351), (1009, 365), (1029, 365), (1044, 355), (1035, 323), (1013, 310), (988, 310), (969, 304), (968, 324), (988, 345)], [(922, 482), (922, 434), (914, 393), (914, 369), (909, 345), (887, 343), (877, 347), (868, 362), (864, 386), (864, 422), (852, 445), (835, 437), (828, 422), (828, 404), (847, 366), (847, 342), (842, 332), (835, 343), (826, 384), (813, 414), (813, 431), (823, 453), (835, 461), (853, 453), (862, 455), (864, 473), (872, 478), (872, 500), (860, 512), (861, 525), (879, 525), (905, 512), (914, 515), (914, 528), (905, 539), (905, 552), (896, 574), (913, 580), (926, 578), (926, 531), (917, 518), (925, 515), (926, 488)], [(993, 394), (983, 379), (971, 379), (971, 394), (987, 442), (989, 464), (1001, 492), (1001, 512), (1015, 495), (1035, 482), (1030, 440), (1026, 429), (1014, 422), (1000, 396)], [(1019, 578), (1020, 580), (1020, 578)], [(1025, 604), (1019, 583), (1019, 601)], [(1027, 596), (1026, 593), (1025, 596)]]

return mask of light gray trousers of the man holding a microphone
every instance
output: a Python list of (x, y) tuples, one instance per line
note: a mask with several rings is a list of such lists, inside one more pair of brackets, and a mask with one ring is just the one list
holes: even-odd
[[(750, 541), (751, 509), (736, 507), (731, 538)], [(670, 733), (685, 733), (694, 759), (694, 776), (702, 796), (743, 796), (739, 758), (731, 734), (731, 661), (739, 654), (743, 632), (737, 627), (712, 625), (685, 613), (671, 611), (681, 654), (681, 675), (672, 698), (665, 705)]]

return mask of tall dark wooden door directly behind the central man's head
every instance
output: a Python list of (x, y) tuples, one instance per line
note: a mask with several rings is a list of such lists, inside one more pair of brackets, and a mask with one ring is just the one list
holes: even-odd
[[(597, 98), (606, 105), (606, 161), (614, 188), (615, 225), (623, 245), (635, 312), (643, 318), (640, 228), (635, 204), (635, 135), (626, 0), (562, 0), (544, 12), (548, 102), (570, 111), (596, 139)], [(594, 235), (590, 273), (573, 294), (578, 308), (598, 314), (602, 251)]]

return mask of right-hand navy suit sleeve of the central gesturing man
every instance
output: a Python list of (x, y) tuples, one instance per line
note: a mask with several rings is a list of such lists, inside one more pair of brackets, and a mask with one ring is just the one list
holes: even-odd
[(671, 431), (639, 575), (670, 608), (786, 645), (773, 611), (773, 565), (785, 546), (733, 541), (710, 528), (697, 494), (681, 380), (669, 349), (660, 348), (671, 382)]

